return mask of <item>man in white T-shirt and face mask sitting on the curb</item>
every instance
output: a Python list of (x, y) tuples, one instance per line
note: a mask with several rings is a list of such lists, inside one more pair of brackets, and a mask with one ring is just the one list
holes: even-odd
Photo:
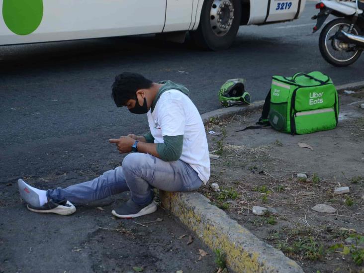
[(153, 213), (153, 188), (166, 191), (191, 191), (210, 176), (207, 139), (189, 91), (171, 81), (153, 83), (136, 73), (115, 78), (112, 97), (117, 107), (127, 106), (135, 114), (148, 116), (150, 132), (110, 139), (119, 153), (128, 154), (121, 167), (94, 180), (66, 188), (41, 190), (18, 180), (22, 199), (28, 209), (40, 213), (69, 215), (76, 211), (71, 202), (89, 203), (130, 190), (131, 198), (112, 214), (134, 218)]

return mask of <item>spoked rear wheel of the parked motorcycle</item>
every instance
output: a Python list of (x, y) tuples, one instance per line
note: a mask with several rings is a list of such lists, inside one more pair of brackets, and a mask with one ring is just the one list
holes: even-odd
[[(348, 44), (333, 38), (339, 30), (349, 31), (350, 25), (350, 20), (338, 18), (327, 23), (320, 33), (319, 48), (321, 55), (328, 63), (334, 66), (351, 65), (362, 54), (362, 50), (357, 49), (355, 44)], [(352, 34), (361, 34), (357, 25), (354, 25)], [(352, 48), (352, 50), (348, 51), (348, 48)]]

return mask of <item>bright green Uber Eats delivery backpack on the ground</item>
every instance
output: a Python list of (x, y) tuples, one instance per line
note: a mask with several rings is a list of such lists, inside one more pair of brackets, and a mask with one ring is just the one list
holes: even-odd
[(321, 72), (273, 76), (258, 124), (294, 134), (334, 129), (339, 97), (331, 79)]

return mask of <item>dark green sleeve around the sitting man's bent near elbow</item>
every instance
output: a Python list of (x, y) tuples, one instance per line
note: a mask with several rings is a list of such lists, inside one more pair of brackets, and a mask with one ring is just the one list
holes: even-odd
[(182, 155), (183, 135), (164, 136), (164, 143), (157, 144), (157, 152), (164, 161), (179, 160)]

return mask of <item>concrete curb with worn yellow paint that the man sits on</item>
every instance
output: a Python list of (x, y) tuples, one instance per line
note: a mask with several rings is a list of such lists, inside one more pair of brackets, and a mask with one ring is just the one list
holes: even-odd
[[(363, 82), (337, 86), (338, 91), (364, 87)], [(217, 109), (201, 115), (204, 124), (210, 118), (224, 119), (262, 107), (264, 100), (250, 105)], [(303, 273), (301, 267), (258, 239), (249, 230), (232, 220), (223, 210), (210, 204), (198, 192), (166, 192), (160, 190), (162, 205), (177, 216), (210, 249), (226, 254), (227, 266), (234, 272)]]

